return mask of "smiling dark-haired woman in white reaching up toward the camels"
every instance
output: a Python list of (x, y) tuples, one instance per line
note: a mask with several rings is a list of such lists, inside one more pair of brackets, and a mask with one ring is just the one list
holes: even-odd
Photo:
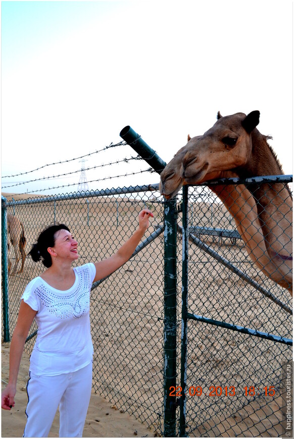
[(10, 346), (9, 382), (2, 408), (15, 405), (17, 376), (29, 328), (35, 318), (38, 334), (30, 357), (27, 423), (24, 437), (47, 437), (60, 410), (60, 437), (81, 437), (90, 401), (93, 345), (90, 335), (90, 289), (132, 255), (149, 227), (153, 213), (143, 209), (139, 226), (111, 257), (73, 268), (78, 243), (61, 224), (38, 237), (30, 255), (47, 269), (33, 279), (21, 298)]

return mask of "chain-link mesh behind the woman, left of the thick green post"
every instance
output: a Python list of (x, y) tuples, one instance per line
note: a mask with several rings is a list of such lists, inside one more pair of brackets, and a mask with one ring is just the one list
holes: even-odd
[[(163, 224), (162, 203), (152, 192), (73, 196), (47, 202), (32, 200), (7, 208), (8, 214), (15, 213), (24, 226), (26, 252), (46, 226), (63, 223), (79, 243), (78, 265), (111, 256), (136, 229), (137, 215), (142, 208), (150, 208), (155, 216), (145, 238), (157, 225)], [(90, 307), (94, 392), (158, 433), (162, 429), (163, 404), (162, 241), (158, 236), (93, 288)], [(9, 256), (14, 262), (12, 246)], [(17, 321), (20, 297), (28, 282), (43, 270), (41, 263), (36, 264), (27, 256), (23, 272), (9, 276), (11, 334)], [(33, 322), (30, 335), (34, 336), (36, 330)], [(34, 341), (32, 337), (26, 343), (27, 353), (31, 352)]]

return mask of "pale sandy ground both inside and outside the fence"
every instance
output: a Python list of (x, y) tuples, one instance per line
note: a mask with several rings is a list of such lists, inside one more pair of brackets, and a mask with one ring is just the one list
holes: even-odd
[[(129, 234), (133, 230), (135, 211), (139, 211), (143, 205), (133, 205), (122, 200), (119, 207), (121, 223), (117, 224), (115, 203), (108, 203), (106, 199), (91, 202), (89, 215), (84, 201), (61, 202), (57, 204), (56, 209), (50, 203), (19, 207), (17, 214), (25, 224), (27, 248), (30, 248), (39, 230), (52, 222), (54, 212), (58, 221), (74, 225), (81, 254), (85, 255), (85, 260), (80, 261), (81, 263), (88, 261), (91, 247), (103, 251), (103, 257), (112, 254), (125, 238), (124, 233), (127, 231)], [(158, 211), (153, 222), (161, 224), (160, 206), (155, 207)], [(194, 210), (191, 210), (191, 224), (201, 224), (199, 216), (202, 215), (208, 218), (205, 223), (207, 226), (231, 228), (225, 208), (214, 206), (214, 210), (216, 207), (219, 211), (217, 214), (214, 212), (212, 220), (210, 204), (195, 203)], [(97, 231), (100, 234), (97, 234)], [(152, 232), (153, 228), (150, 228), (149, 233)], [(96, 368), (93, 373), (96, 382), (93, 388), (99, 392), (92, 395), (84, 429), (85, 437), (151, 437), (156, 434), (156, 412), (161, 410), (163, 375), (163, 331), (162, 319), (159, 318), (162, 317), (163, 307), (161, 241), (162, 237), (157, 238), (143, 255), (134, 258), (116, 273), (115, 284), (119, 286), (117, 289), (113, 288), (114, 281), (110, 279), (92, 292), (91, 325), (96, 352)], [(213, 242), (210, 239), (208, 244), (291, 307), (287, 293), (272, 288), (274, 285), (249, 262), (240, 242), (223, 243), (217, 238)], [(292, 324), (289, 314), (256, 291), (253, 286), (224, 269), (223, 265), (203, 254), (195, 245), (190, 245), (189, 255), (189, 305), (194, 313), (244, 327), (254, 327), (274, 335), (291, 337)], [(89, 254), (89, 257), (92, 256)], [(15, 324), (19, 292), (36, 276), (35, 269), (27, 258), (22, 275), (9, 277), (11, 330)], [(180, 262), (178, 270), (180, 273)], [(146, 282), (147, 291), (144, 290)], [(14, 305), (14, 313), (12, 304), (17, 304)], [(180, 346), (180, 340), (178, 345)], [(7, 380), (9, 346), (4, 345), (2, 350), (3, 379)], [(205, 394), (210, 386), (234, 386), (236, 396), (215, 399), (204, 396), (188, 398), (186, 421), (189, 428), (186, 433), (189, 436), (204, 437), (276, 437), (283, 434), (281, 423), (284, 414), (281, 410), (278, 386), (281, 364), (290, 358), (290, 350), (284, 345), (274, 345), (272, 342), (238, 335), (235, 332), (229, 333), (222, 328), (210, 327), (201, 322), (190, 322), (187, 387), (202, 386)], [(3, 437), (22, 435), (26, 420), (24, 410), (27, 395), (26, 391), (21, 389), (25, 389), (27, 375), (28, 356), (24, 355), (16, 396), (17, 405), (12, 412), (2, 413)], [(109, 389), (117, 389), (113, 396), (121, 404), (117, 410), (118, 402), (109, 403), (97, 396), (102, 394), (101, 383), (106, 393)], [(253, 398), (243, 395), (245, 386), (275, 386), (275, 397), (265, 399), (260, 396), (252, 401)], [(128, 408), (129, 396), (135, 399), (137, 404), (132, 406), (137, 417), (147, 419), (152, 424), (152, 429), (147, 425), (143, 426), (127, 413), (121, 413), (121, 410), (125, 411)], [(10, 419), (11, 417), (15, 419)], [(58, 419), (52, 427), (51, 437), (58, 437)]]

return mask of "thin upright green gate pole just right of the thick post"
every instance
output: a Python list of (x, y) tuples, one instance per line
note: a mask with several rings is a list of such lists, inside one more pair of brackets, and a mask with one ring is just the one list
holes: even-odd
[(187, 312), (188, 312), (188, 186), (183, 186), (183, 262), (182, 262), (182, 329), (181, 329), (181, 388), (179, 436), (186, 436), (186, 384), (187, 384)]

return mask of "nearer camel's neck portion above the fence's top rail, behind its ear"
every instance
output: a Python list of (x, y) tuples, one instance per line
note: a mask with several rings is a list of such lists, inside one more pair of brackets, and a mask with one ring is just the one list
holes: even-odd
[(246, 165), (237, 170), (240, 177), (283, 174), (280, 163), (257, 128), (252, 132), (252, 153)]

